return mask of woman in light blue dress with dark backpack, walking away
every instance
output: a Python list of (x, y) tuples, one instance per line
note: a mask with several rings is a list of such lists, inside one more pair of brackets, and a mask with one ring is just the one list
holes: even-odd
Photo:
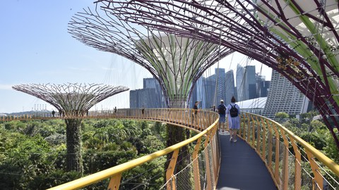
[(240, 108), (235, 103), (235, 98), (232, 96), (231, 103), (227, 105), (227, 120), (230, 128), (230, 141), (237, 141), (237, 131), (240, 129)]

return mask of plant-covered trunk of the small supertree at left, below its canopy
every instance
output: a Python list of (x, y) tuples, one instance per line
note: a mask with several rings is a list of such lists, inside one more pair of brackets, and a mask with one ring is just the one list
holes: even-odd
[(83, 173), (81, 156), (81, 119), (66, 119), (67, 170)]

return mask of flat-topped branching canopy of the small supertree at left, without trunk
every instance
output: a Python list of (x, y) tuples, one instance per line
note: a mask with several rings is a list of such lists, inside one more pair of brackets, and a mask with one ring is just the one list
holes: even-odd
[(127, 91), (129, 88), (112, 87), (103, 84), (20, 84), (12, 87), (39, 99), (42, 99), (57, 108), (64, 116), (79, 116), (85, 113), (96, 103), (109, 96)]

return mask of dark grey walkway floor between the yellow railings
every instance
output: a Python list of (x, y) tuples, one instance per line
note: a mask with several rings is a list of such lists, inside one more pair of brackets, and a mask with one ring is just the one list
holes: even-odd
[(263, 160), (249, 144), (239, 138), (230, 142), (229, 132), (219, 137), (221, 165), (217, 190), (277, 189)]

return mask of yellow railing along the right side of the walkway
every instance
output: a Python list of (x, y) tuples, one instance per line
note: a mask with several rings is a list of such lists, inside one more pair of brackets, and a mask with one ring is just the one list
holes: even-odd
[(239, 137), (261, 157), (278, 189), (339, 189), (326, 172), (339, 177), (339, 165), (290, 130), (251, 113), (242, 113), (241, 122)]

